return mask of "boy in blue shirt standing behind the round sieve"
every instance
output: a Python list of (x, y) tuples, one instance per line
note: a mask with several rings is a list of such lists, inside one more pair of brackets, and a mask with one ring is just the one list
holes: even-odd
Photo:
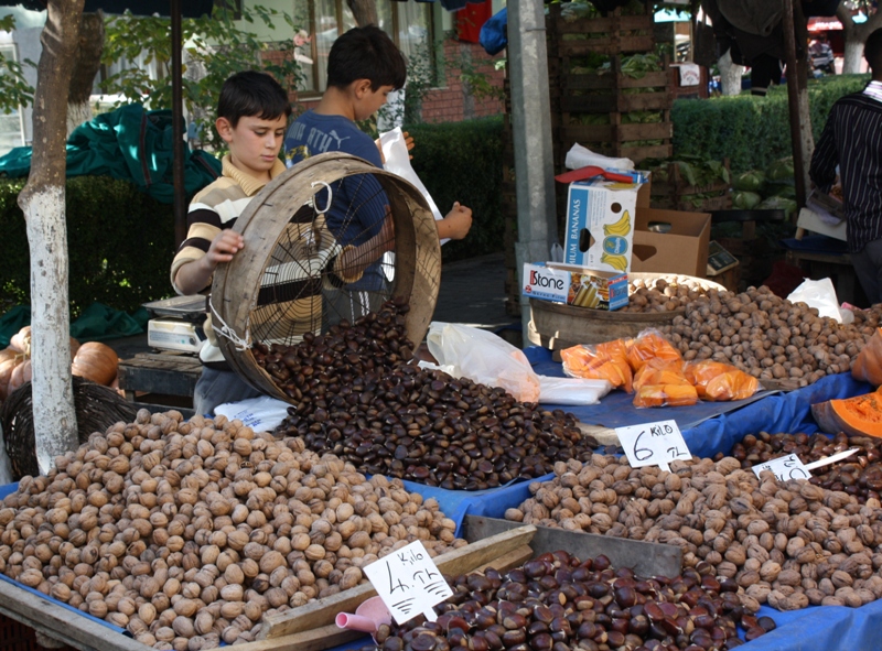
[[(284, 139), (288, 165), (312, 155), (340, 151), (381, 169), (377, 143), (355, 122), (377, 112), (389, 93), (405, 86), (406, 78), (404, 55), (379, 28), (354, 28), (340, 36), (327, 57), (327, 89), (319, 106), (300, 116), (288, 129)], [(349, 176), (334, 184), (332, 189), (326, 219), (341, 245), (359, 245), (379, 232), (388, 202), (373, 176)], [(472, 226), (472, 210), (458, 202), (435, 224), (440, 239), (462, 239)], [(346, 286), (346, 296), (331, 301), (332, 310), (347, 319), (373, 312), (385, 300), (387, 285), (381, 265), (374, 264), (361, 281)], [(359, 295), (359, 306), (342, 304), (358, 300)]]

